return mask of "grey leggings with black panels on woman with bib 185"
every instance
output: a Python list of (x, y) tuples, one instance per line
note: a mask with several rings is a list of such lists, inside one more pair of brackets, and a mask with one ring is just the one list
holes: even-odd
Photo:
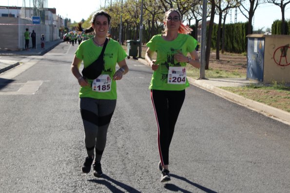
[(85, 131), (85, 145), (89, 157), (100, 162), (107, 141), (107, 131), (116, 107), (116, 100), (79, 98), (80, 114)]

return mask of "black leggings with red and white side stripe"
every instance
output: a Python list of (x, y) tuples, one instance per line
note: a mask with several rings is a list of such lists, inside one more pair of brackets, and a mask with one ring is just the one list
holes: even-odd
[(184, 98), (185, 90), (151, 90), (158, 128), (158, 150), (163, 166), (169, 164), (169, 146)]

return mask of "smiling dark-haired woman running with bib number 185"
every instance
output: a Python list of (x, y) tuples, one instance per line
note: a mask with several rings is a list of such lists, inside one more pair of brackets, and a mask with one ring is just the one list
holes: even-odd
[[(106, 37), (110, 20), (110, 15), (104, 11), (98, 11), (93, 15), (92, 26), (86, 29), (85, 33), (94, 31), (95, 36), (80, 43), (71, 66), (80, 85), (79, 109), (87, 151), (81, 169), (83, 173), (89, 173), (95, 160), (93, 174), (96, 177), (103, 174), (100, 161), (106, 145), (107, 130), (116, 107), (116, 80), (121, 80), (129, 70), (124, 49), (118, 42)], [(78, 30), (82, 31), (81, 26)], [(104, 53), (103, 47), (105, 47)], [(96, 79), (83, 76), (84, 74), (79, 72), (81, 62), (83, 61), (84, 68), (88, 68), (99, 56), (103, 57), (101, 74)], [(119, 66), (118, 70), (116, 64)], [(95, 70), (93, 73), (97, 74)]]

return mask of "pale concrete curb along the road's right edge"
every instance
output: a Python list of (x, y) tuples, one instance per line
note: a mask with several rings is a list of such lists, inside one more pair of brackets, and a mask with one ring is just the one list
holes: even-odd
[[(145, 64), (147, 66), (148, 63), (146, 60), (138, 58), (138, 62), (141, 62), (142, 64)], [(268, 117), (271, 117), (275, 120), (278, 120), (280, 122), (283, 122), (285, 124), (290, 125), (290, 113), (286, 112), (284, 110), (269, 106), (269, 105), (265, 105), (263, 103), (259, 103), (257, 101), (253, 101), (251, 99), (247, 99), (245, 97), (242, 97), (240, 95), (237, 95), (235, 93), (232, 93), (230, 91), (224, 90), (222, 88), (217, 88), (214, 86), (211, 86), (209, 84), (206, 84), (204, 82), (195, 80), (191, 77), (187, 77), (188, 81), (190, 84), (197, 86), (199, 88), (202, 88), (204, 90), (210, 91), (213, 94), (216, 94), (222, 98), (225, 98), (231, 102), (234, 102), (238, 105), (242, 105), (245, 106), (247, 108), (250, 108), (251, 110), (254, 110), (256, 112), (262, 113)]]

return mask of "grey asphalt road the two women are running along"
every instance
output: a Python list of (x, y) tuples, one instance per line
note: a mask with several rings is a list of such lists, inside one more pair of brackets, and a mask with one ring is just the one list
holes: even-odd
[(76, 47), (61, 43), (0, 74), (0, 192), (287, 193), (290, 126), (191, 86), (160, 183), (152, 70), (127, 60), (102, 158), (104, 176), (82, 174), (86, 157)]

